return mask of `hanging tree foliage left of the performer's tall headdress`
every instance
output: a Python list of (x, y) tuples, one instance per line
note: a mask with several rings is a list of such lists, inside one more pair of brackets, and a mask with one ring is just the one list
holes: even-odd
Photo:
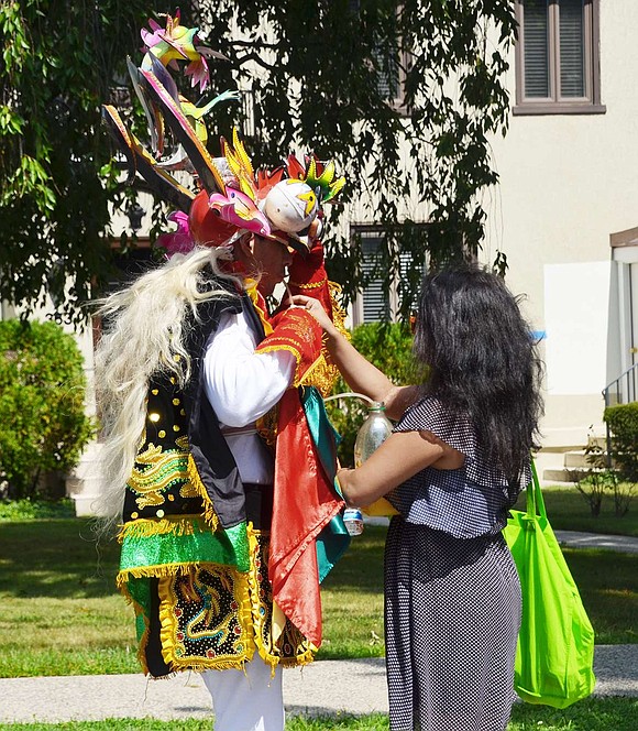
[(109, 274), (108, 200), (121, 198), (100, 105), (158, 3), (0, 0), (2, 298), (53, 295), (77, 314)]

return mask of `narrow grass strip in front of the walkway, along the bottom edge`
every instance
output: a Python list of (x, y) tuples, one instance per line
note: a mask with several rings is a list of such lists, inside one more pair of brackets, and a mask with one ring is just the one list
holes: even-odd
[[(516, 703), (507, 731), (635, 731), (638, 728), (638, 699), (588, 698), (564, 710), (546, 706)], [(0, 723), (11, 731), (209, 731), (210, 719), (107, 719), (68, 723)], [(286, 722), (286, 731), (387, 731), (387, 716), (338, 714), (322, 718), (295, 717)]]

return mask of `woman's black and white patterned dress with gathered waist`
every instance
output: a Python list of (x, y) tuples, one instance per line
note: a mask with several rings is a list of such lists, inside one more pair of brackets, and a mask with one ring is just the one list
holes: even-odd
[[(427, 429), (465, 456), (389, 493), (385, 633), (392, 731), (504, 731), (512, 711), (520, 585), (501, 535), (509, 498), (465, 419), (426, 397), (395, 432)], [(528, 479), (524, 476), (521, 483)]]

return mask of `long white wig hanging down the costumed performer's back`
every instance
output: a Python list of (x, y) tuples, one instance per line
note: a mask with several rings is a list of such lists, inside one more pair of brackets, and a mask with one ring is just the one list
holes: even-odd
[(201, 284), (207, 266), (219, 279), (235, 280), (220, 271), (220, 260), (230, 259), (228, 247), (176, 254), (99, 303), (106, 329), (96, 351), (95, 381), (103, 446), (95, 509), (102, 534), (121, 520), (124, 488), (144, 434), (150, 379), (164, 372), (175, 377), (179, 386), (186, 385), (190, 378), (186, 316), (190, 312), (197, 320), (198, 305), (228, 297), (228, 290)]

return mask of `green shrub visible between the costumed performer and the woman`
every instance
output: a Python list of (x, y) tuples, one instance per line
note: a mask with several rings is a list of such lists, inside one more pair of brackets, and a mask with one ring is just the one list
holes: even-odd
[[(394, 383), (415, 383), (417, 369), (411, 356), (413, 336), (399, 323), (367, 323), (352, 331), (352, 345), (367, 360), (382, 370)], [(333, 394), (350, 392), (343, 379), (334, 385)], [(367, 414), (367, 404), (360, 399), (339, 399), (326, 404), (334, 428), (341, 435), (339, 459), (343, 467), (353, 467), (354, 440)]]

